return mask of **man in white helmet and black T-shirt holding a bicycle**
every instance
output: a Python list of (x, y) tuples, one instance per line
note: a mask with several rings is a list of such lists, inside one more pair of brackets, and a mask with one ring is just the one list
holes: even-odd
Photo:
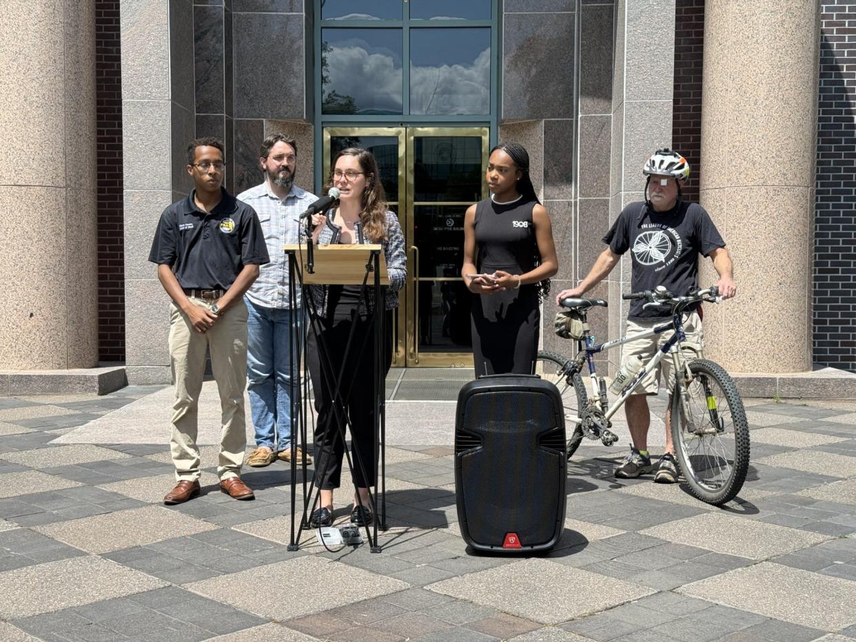
[[(689, 203), (681, 199), (683, 187), (690, 167), (687, 160), (669, 149), (657, 150), (645, 162), (642, 173), (645, 181), (645, 201), (631, 203), (621, 211), (612, 228), (603, 237), (607, 248), (595, 260), (591, 270), (576, 288), (562, 290), (556, 295), (556, 304), (567, 297), (580, 297), (609, 275), (618, 264), (621, 255), (631, 250), (633, 268), (631, 289), (633, 292), (652, 290), (663, 286), (675, 295), (687, 294), (691, 288), (698, 288), (698, 255), (710, 257), (714, 269), (719, 275), (719, 294), (728, 299), (737, 291), (732, 276), (731, 258), (725, 248), (725, 241), (719, 234), (707, 211), (698, 203)], [(627, 315), (627, 336), (640, 334), (663, 321), (669, 321), (669, 311), (665, 308), (645, 308), (645, 301), (633, 300)], [(701, 328), (700, 308), (687, 315), (684, 321), (687, 341), (683, 347), (693, 350), (693, 356), (701, 354), (704, 340)], [(636, 355), (643, 362), (650, 360), (655, 351), (669, 340), (673, 332), (645, 337), (624, 344), (621, 352), (622, 362)], [(647, 395), (657, 395), (660, 370), (663, 369), (666, 385), (675, 378), (672, 361), (664, 359), (657, 368), (645, 377), (636, 387), (633, 395), (627, 397), (625, 412), (627, 427), (633, 445), (621, 466), (615, 470), (615, 476), (637, 478), (651, 473), (655, 466), (651, 464), (648, 453), (648, 429), (651, 426), (651, 413), (648, 409)], [(671, 407), (669, 403), (668, 407)], [(666, 413), (666, 447), (660, 458), (654, 481), (671, 484), (677, 481), (678, 471), (675, 465), (675, 448), (669, 431), (669, 411)]]

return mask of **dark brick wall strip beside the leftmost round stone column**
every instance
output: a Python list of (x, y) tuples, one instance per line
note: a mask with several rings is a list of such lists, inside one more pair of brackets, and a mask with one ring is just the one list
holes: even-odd
[(125, 360), (122, 65), (118, 0), (95, 3), (98, 123), (98, 360)]

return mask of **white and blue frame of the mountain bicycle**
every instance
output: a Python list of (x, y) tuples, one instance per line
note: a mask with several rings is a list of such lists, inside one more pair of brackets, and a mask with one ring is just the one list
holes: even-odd
[[(621, 389), (621, 395), (619, 395), (618, 399), (609, 407), (609, 409), (605, 410), (604, 417), (609, 420), (618, 409), (627, 401), (627, 397), (633, 394), (633, 389), (645, 378), (649, 373), (654, 371), (654, 368), (662, 361), (667, 354), (670, 354), (673, 363), (675, 364), (675, 372), (681, 372), (681, 369), (686, 368), (686, 360), (681, 360), (681, 342), (686, 341), (687, 335), (684, 333), (684, 325), (683, 319), (681, 318), (681, 313), (675, 313), (672, 315), (672, 320), (669, 323), (665, 323), (662, 325), (657, 325), (651, 330), (645, 330), (645, 332), (641, 332), (638, 335), (633, 336), (622, 336), (618, 339), (614, 339), (613, 341), (608, 341), (605, 343), (601, 343), (600, 345), (595, 345), (594, 340), (591, 337), (590, 330), (585, 330), (583, 332), (583, 337), (580, 339), (580, 342), (583, 344), (583, 348), (580, 349), (580, 352), (577, 354), (575, 363), (580, 364), (583, 360), (588, 363), (589, 367), (589, 377), (591, 378), (591, 393), (592, 400), (600, 398), (600, 388), (597, 381), (597, 372), (595, 370), (594, 359), (593, 356), (595, 354), (606, 352), (610, 348), (615, 348), (615, 346), (620, 346), (623, 343), (635, 341), (636, 339), (644, 339), (649, 336), (656, 336), (659, 334), (663, 334), (663, 332), (667, 332), (669, 330), (675, 330), (675, 334), (669, 337), (669, 340), (663, 344), (662, 348), (659, 348), (654, 356), (648, 360), (648, 363), (636, 373), (633, 377), (633, 380), (630, 383)], [(583, 358), (583, 353), (585, 352), (585, 357)], [(580, 417), (574, 417), (573, 415), (568, 415), (566, 421), (573, 423), (574, 425), (579, 424), (581, 419)]]

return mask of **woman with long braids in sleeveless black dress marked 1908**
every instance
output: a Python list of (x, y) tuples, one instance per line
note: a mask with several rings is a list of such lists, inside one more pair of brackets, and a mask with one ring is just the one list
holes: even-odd
[(550, 216), (529, 178), (529, 154), (516, 143), (490, 150), (490, 199), (464, 218), (461, 276), (473, 297), (476, 376), (534, 372), (540, 300), (559, 262)]

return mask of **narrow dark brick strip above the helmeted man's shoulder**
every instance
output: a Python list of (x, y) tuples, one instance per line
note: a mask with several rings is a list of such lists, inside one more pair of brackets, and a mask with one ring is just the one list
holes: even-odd
[(704, 49), (704, 0), (675, 2), (675, 101), (672, 148), (690, 163), (684, 198), (698, 200), (701, 177), (701, 84)]

